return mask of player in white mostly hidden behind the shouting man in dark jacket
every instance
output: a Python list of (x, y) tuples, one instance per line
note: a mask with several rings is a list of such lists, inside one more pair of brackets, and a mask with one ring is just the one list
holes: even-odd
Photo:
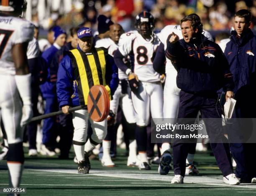
[[(174, 32), (176, 35), (182, 39), (182, 31), (180, 25), (167, 25), (165, 28), (161, 30), (159, 33), (159, 39), (161, 41), (159, 48), (156, 53), (156, 58), (154, 60), (153, 66), (154, 69), (158, 73), (166, 73), (166, 80), (164, 85), (164, 118), (169, 118), (173, 122), (176, 123), (176, 118), (178, 115), (179, 108), (179, 92), (180, 89), (176, 84), (177, 70), (171, 63), (171, 60), (165, 57), (164, 51), (166, 50), (167, 41), (169, 40), (170, 34)], [(203, 34), (209, 39), (213, 41), (212, 35), (206, 30), (203, 31)], [(166, 61), (165, 70), (164, 70), (164, 62)], [(167, 144), (166, 144), (167, 145)], [(196, 145), (196, 143), (195, 143)], [(170, 151), (170, 149), (169, 149)], [(161, 162), (159, 165), (159, 173), (161, 175), (166, 175), (169, 170), (166, 163), (169, 163), (170, 160), (168, 154), (163, 153), (161, 156)], [(189, 174), (198, 174), (199, 171), (194, 166), (194, 157), (195, 157), (195, 149), (191, 149), (191, 152), (188, 153), (187, 156), (187, 168), (186, 175)]]

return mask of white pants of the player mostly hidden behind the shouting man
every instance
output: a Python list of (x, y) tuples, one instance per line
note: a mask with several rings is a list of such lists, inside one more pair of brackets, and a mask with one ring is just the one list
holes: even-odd
[(177, 87), (176, 76), (176, 70), (166, 73), (164, 85), (164, 118), (173, 118), (174, 120), (178, 116), (180, 92)]

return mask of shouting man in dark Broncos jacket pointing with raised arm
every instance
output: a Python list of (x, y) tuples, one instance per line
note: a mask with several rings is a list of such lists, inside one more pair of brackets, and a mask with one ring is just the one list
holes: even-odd
[[(199, 17), (189, 15), (181, 20), (183, 39), (172, 33), (169, 38), (166, 57), (177, 69), (177, 87), (179, 96), (178, 118), (196, 118), (198, 111), (202, 118), (219, 118), (206, 121), (207, 132), (217, 143), (211, 143), (217, 164), (223, 173), (223, 181), (230, 185), (239, 184), (231, 168), (230, 154), (224, 143), (221, 129), (221, 107), (217, 90), (224, 87), (226, 97), (232, 97), (233, 80), (228, 70), (228, 62), (214, 42), (202, 35), (202, 23)], [(179, 119), (178, 119), (179, 122)], [(194, 123), (194, 121), (192, 122)], [(192, 144), (174, 140), (174, 178), (172, 183), (183, 183), (188, 150)]]

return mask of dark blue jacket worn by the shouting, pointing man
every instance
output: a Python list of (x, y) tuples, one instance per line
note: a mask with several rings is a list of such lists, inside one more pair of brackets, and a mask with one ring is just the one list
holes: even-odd
[(167, 43), (166, 58), (177, 70), (177, 87), (189, 93), (216, 93), (233, 90), (228, 61), (219, 45), (204, 35), (186, 43)]

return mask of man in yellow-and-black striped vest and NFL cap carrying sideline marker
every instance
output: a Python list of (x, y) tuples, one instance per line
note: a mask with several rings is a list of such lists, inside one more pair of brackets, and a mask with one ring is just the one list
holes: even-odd
[[(104, 48), (95, 48), (92, 44), (92, 30), (82, 27), (77, 36), (77, 49), (70, 50), (64, 56), (57, 74), (57, 96), (63, 113), (68, 113), (71, 106), (87, 105), (87, 96), (93, 85), (104, 85), (111, 95), (118, 86), (118, 69), (113, 57)], [(90, 119), (92, 136), (86, 142), (89, 117), (87, 109), (76, 111), (72, 115), (74, 151), (79, 161), (78, 173), (89, 173), (88, 152), (105, 138), (107, 120), (95, 122)]]

